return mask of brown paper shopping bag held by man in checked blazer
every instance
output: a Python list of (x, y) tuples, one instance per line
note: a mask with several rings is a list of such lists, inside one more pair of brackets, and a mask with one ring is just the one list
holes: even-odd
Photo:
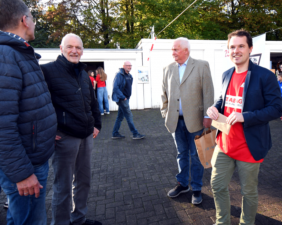
[(195, 144), (197, 152), (201, 161), (201, 164), (205, 169), (212, 167), (211, 160), (214, 148), (216, 146), (217, 130), (211, 130), (209, 128), (207, 131), (204, 129), (203, 133), (200, 136), (195, 137)]

